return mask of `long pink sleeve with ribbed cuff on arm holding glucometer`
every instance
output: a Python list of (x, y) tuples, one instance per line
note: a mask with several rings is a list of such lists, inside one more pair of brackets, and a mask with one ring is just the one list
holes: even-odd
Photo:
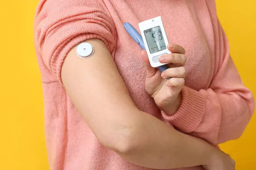
[(239, 138), (254, 111), (253, 95), (239, 77), (219, 21), (218, 34), (218, 71), (209, 88), (195, 91), (184, 87), (176, 113), (169, 116), (162, 111), (163, 118), (179, 130), (212, 144)]

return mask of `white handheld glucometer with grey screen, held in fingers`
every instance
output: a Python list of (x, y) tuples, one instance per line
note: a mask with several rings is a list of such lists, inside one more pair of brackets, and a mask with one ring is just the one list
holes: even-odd
[(150, 65), (152, 67), (165, 65), (166, 63), (160, 63), (158, 58), (163, 54), (171, 54), (171, 51), (167, 49), (169, 42), (161, 17), (159, 16), (150, 20), (145, 20), (139, 23), (139, 28), (145, 49), (148, 54)]

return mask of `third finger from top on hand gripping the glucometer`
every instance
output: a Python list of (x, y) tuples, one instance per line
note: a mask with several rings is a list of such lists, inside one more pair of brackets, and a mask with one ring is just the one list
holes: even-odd
[(166, 71), (163, 71), (161, 76), (164, 79), (167, 79), (168, 77), (185, 78), (185, 76), (186, 76), (186, 69), (185, 69), (185, 67), (168, 68)]

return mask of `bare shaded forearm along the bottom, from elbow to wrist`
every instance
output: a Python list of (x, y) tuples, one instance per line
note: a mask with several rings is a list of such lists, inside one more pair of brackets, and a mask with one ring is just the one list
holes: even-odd
[(180, 133), (159, 119), (141, 113), (134, 126), (124, 159), (143, 167), (170, 169), (208, 164), (216, 148), (207, 142)]

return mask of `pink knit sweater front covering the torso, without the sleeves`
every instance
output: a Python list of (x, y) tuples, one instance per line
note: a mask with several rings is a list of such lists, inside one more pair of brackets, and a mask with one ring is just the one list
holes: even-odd
[[(123, 28), (125, 22), (139, 30), (139, 22), (161, 16), (169, 42), (182, 45), (186, 49), (185, 85), (195, 90), (209, 86), (217, 69), (214, 68), (216, 54), (213, 25), (217, 22), (214, 0), (103, 2), (116, 29), (114, 61), (131, 98), (140, 110), (161, 119), (159, 108), (145, 92), (145, 67), (140, 57), (140, 46), (126, 33)], [(46, 142), (51, 169), (148, 170), (125, 161), (100, 144), (59, 82), (43, 80), (43, 88)], [(194, 167), (179, 170), (199, 169), (201, 168)]]

